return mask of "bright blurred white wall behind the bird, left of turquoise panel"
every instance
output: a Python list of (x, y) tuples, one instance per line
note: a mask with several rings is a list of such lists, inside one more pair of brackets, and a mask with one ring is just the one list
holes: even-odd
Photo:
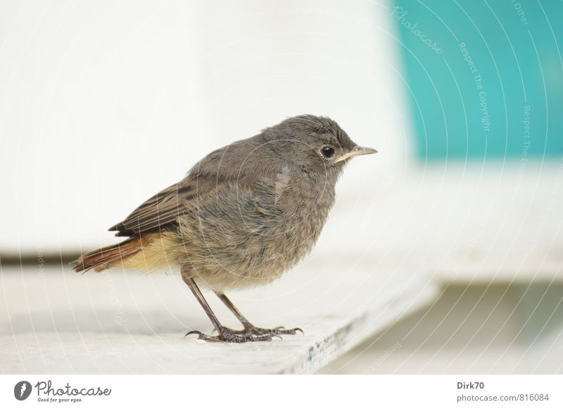
[(211, 150), (302, 113), (381, 154), (339, 200), (405, 163), (388, 6), (356, 1), (0, 5), (0, 249), (115, 242), (106, 229)]

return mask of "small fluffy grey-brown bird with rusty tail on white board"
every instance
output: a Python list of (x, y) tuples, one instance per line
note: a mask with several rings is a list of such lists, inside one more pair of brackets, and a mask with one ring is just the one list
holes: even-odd
[[(73, 269), (179, 270), (217, 332), (186, 336), (242, 343), (303, 332), (253, 325), (225, 292), (271, 283), (303, 259), (327, 221), (346, 164), (373, 153), (329, 117), (286, 118), (210, 152), (109, 228), (124, 241), (82, 254)], [(243, 329), (222, 325), (200, 287), (212, 290)]]

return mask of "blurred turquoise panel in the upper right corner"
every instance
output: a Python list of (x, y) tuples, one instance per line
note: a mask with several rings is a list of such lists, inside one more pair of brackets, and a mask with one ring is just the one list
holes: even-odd
[(422, 160), (563, 152), (562, 1), (395, 1)]

